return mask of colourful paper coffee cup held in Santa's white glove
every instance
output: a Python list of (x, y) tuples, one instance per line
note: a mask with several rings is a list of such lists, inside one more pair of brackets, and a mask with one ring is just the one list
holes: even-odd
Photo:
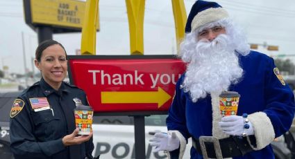
[(234, 91), (224, 91), (219, 95), (219, 106), (221, 115), (237, 115), (237, 107), (239, 106), (239, 93)]

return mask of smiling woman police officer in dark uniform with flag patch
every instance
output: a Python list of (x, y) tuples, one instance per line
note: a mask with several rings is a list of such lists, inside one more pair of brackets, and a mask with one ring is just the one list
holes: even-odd
[(22, 92), (10, 111), (10, 140), (15, 158), (93, 158), (92, 133), (77, 135), (76, 102), (89, 105), (83, 90), (63, 82), (67, 54), (58, 41), (36, 49), (40, 82)]

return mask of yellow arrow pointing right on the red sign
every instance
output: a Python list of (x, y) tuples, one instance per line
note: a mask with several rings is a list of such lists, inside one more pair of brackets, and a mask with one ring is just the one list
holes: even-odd
[(158, 91), (102, 91), (102, 104), (121, 104), (121, 103), (158, 103), (160, 108), (165, 102), (170, 100), (171, 96), (160, 86)]

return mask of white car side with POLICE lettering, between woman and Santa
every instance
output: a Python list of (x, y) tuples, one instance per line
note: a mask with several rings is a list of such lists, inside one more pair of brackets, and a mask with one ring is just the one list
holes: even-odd
[[(151, 115), (145, 118), (146, 158), (167, 158), (163, 151), (153, 152), (149, 139), (156, 132), (167, 132), (165, 120), (167, 115)], [(94, 156), (101, 158), (135, 158), (135, 138), (133, 117), (105, 116), (94, 117), (98, 124), (93, 125)], [(192, 141), (189, 140), (192, 145)], [(187, 147), (190, 149), (190, 146)], [(189, 150), (184, 158), (189, 158)]]

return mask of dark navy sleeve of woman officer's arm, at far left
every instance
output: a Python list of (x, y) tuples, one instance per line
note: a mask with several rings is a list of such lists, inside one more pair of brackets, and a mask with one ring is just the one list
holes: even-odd
[(62, 139), (38, 142), (33, 135), (33, 124), (25, 101), (22, 111), (10, 118), (10, 147), (15, 158), (48, 158), (65, 149)]

